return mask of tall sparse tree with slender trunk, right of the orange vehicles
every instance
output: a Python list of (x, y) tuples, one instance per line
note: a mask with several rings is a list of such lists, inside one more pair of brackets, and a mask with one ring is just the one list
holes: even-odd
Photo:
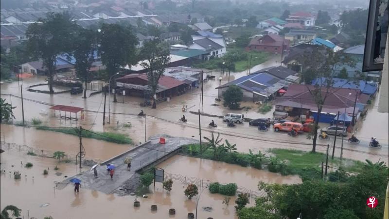
[(321, 110), (326, 103), (327, 97), (340, 89), (332, 88), (335, 82), (334, 72), (339, 64), (354, 66), (354, 61), (342, 51), (334, 52), (331, 49), (321, 50), (319, 47), (313, 48), (312, 52), (305, 52), (297, 60), (302, 64), (303, 71), (301, 77), (306, 84), (311, 84), (313, 79), (320, 78), (320, 82), (314, 86), (306, 86), (318, 108), (318, 118), (315, 120), (313, 126), (312, 138), (312, 152), (316, 152), (318, 123), (320, 121)]

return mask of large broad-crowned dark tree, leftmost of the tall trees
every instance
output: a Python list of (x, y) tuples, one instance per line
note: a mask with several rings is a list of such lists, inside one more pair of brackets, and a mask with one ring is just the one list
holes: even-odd
[(56, 57), (71, 52), (76, 23), (67, 12), (49, 12), (46, 18), (40, 18), (38, 21), (40, 23), (32, 23), (28, 26), (27, 47), (37, 58), (42, 59), (43, 66), (46, 68), (49, 90), (53, 94)]

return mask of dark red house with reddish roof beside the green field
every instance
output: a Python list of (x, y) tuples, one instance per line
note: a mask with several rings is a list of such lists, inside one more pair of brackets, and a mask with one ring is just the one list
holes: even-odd
[(289, 40), (283, 39), (278, 34), (267, 34), (263, 37), (251, 39), (248, 45), (249, 50), (265, 51), (271, 53), (282, 53), (289, 48)]

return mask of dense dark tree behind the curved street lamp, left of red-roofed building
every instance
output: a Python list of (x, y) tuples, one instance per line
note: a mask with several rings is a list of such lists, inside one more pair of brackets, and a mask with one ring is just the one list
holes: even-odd
[[(103, 23), (100, 28), (99, 41), (98, 51), (109, 78), (119, 72), (121, 66), (130, 67), (137, 62), (135, 51), (138, 40), (129, 28), (118, 24)], [(109, 78), (106, 79), (109, 80)], [(110, 87), (116, 87), (115, 79), (111, 80)], [(113, 102), (116, 102), (116, 92), (113, 94)]]

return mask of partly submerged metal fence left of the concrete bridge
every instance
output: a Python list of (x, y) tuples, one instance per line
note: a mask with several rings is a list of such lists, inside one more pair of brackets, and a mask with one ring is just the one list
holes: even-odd
[[(16, 144), (16, 143), (7, 143), (4, 141), (1, 141), (0, 148), (4, 151), (5, 150), (18, 151), (19, 153), (26, 153), (26, 154), (32, 155), (32, 156), (45, 156), (45, 157), (51, 157), (51, 158), (54, 157), (54, 152), (51, 150), (37, 149), (34, 147), (30, 147), (27, 145), (20, 145), (20, 144)], [(76, 163), (77, 164), (77, 162), (79, 162), (79, 157), (77, 157), (76, 155), (65, 154), (65, 156), (62, 158), (62, 161), (66, 162), (66, 163)], [(83, 159), (82, 159), (83, 165), (86, 165), (86, 166), (93, 166), (95, 164), (102, 163), (102, 162), (104, 162), (104, 161), (101, 159), (91, 159), (88, 157), (83, 157)]]

